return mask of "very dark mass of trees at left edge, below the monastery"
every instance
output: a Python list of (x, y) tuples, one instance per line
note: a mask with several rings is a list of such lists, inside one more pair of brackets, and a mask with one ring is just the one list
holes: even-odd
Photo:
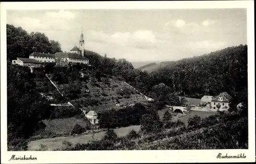
[(35, 75), (28, 68), (7, 66), (7, 133), (8, 146), (28, 139), (38, 121), (49, 119), (53, 111), (49, 102), (36, 92)]

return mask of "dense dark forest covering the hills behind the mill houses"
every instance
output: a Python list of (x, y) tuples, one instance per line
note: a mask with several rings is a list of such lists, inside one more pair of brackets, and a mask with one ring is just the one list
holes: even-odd
[(154, 95), (154, 86), (163, 83), (168, 93), (180, 96), (201, 98), (227, 92), (247, 103), (247, 45), (169, 62), (151, 73), (134, 69), (125, 59), (104, 58), (90, 51), (86, 57), (97, 70), (125, 80), (148, 96)]

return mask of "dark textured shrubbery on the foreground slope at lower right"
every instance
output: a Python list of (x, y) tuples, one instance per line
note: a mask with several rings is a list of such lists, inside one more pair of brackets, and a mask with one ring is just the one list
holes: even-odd
[[(195, 120), (201, 121), (195, 123)], [(248, 119), (246, 111), (216, 114), (205, 119), (195, 117), (190, 121), (189, 126), (186, 126), (181, 121), (164, 122), (161, 131), (144, 134), (143, 131), (136, 132), (132, 130), (122, 137), (118, 137), (114, 130), (108, 130), (101, 140), (87, 144), (76, 144), (72, 147), (72, 150), (248, 148)]]

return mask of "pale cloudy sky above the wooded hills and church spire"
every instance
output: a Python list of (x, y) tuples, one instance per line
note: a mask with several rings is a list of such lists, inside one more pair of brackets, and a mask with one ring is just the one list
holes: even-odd
[(246, 9), (9, 10), (7, 23), (130, 62), (176, 61), (247, 44)]

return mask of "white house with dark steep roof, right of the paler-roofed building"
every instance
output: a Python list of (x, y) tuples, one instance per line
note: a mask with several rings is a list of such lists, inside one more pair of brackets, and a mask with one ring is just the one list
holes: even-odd
[(227, 92), (222, 92), (211, 100), (211, 107), (214, 110), (217, 110), (218, 107), (221, 111), (228, 110), (231, 99), (232, 97)]

